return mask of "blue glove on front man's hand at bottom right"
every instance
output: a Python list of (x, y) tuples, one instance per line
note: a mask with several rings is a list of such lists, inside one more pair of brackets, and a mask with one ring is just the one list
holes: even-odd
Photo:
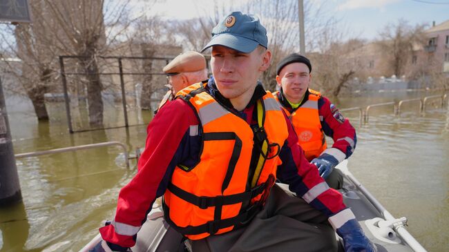
[(343, 226), (336, 230), (343, 238), (345, 251), (376, 252), (376, 246), (363, 233), (362, 227), (357, 220), (348, 220)]

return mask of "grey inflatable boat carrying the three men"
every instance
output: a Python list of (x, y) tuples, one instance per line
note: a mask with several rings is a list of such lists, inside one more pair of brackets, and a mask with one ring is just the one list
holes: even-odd
[[(426, 251), (405, 229), (407, 219), (393, 217), (350, 173), (347, 160), (338, 164), (336, 168), (340, 169), (344, 175), (343, 188), (339, 190), (343, 194), (343, 201), (352, 209), (365, 235), (376, 244), (379, 252)], [(286, 184), (279, 185), (288, 190)], [(184, 242), (182, 235), (171, 229), (163, 216), (160, 201), (156, 200), (153, 210), (137, 233), (136, 244), (131, 248), (133, 252), (190, 251), (188, 242)], [(337, 235), (336, 239), (339, 239)], [(102, 238), (98, 234), (81, 251), (87, 252), (101, 241)]]

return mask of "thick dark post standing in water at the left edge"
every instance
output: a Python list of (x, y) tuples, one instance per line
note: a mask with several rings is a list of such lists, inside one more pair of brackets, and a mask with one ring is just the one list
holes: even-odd
[(19, 175), (12, 149), (10, 124), (0, 79), (0, 207), (20, 202)]

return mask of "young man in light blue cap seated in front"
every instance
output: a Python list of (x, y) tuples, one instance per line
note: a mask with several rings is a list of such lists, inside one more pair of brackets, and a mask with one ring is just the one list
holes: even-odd
[[(213, 78), (185, 88), (148, 127), (137, 175), (120, 191), (97, 251), (126, 251), (156, 197), (197, 251), (375, 251), (342, 195), (307, 162), (259, 75), (269, 67), (259, 19), (232, 12), (213, 28)], [(276, 178), (288, 184), (287, 193)]]

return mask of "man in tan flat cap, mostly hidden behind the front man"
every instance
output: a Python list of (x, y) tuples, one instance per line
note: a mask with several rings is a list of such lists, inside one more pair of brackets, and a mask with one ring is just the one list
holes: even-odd
[(194, 51), (188, 51), (178, 55), (169, 64), (164, 66), (162, 71), (165, 72), (169, 80), (170, 90), (162, 98), (157, 110), (154, 112), (155, 114), (168, 101), (173, 100), (176, 93), (182, 90), (182, 88), (207, 79), (206, 59), (202, 54)]

